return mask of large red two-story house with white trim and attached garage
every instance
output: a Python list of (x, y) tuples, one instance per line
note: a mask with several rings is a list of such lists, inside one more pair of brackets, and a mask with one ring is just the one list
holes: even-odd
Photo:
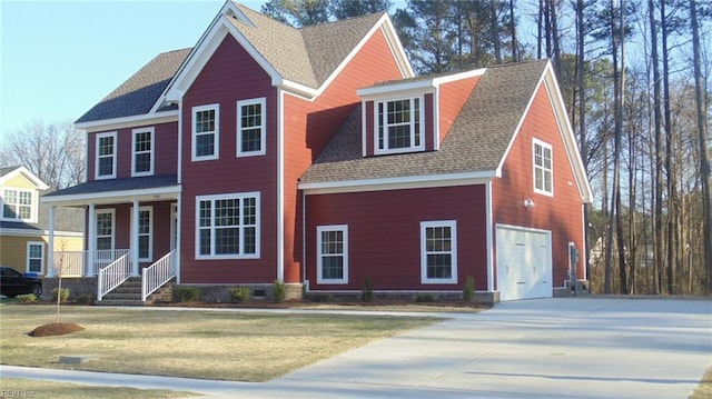
[(206, 298), (472, 276), (494, 300), (585, 279), (591, 190), (547, 61), (415, 77), (385, 13), (295, 29), (228, 1), (77, 127), (88, 181), (43, 201), (86, 209), (99, 297), (131, 276)]

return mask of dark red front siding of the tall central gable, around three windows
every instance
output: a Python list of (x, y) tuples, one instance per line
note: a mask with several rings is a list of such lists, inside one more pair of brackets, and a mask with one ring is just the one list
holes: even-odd
[[(227, 36), (184, 97), (181, 281), (271, 282), (276, 271), (277, 97), (269, 76)], [(266, 154), (236, 156), (237, 101), (266, 98)], [(191, 161), (192, 107), (219, 103), (219, 159)], [(196, 196), (260, 192), (260, 258), (196, 260)]]

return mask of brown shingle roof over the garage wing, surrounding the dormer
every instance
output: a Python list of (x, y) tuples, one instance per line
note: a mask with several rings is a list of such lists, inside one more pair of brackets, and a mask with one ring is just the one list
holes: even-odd
[(547, 61), (487, 68), (437, 151), (362, 157), (360, 107), (301, 177), (301, 183), (494, 171)]

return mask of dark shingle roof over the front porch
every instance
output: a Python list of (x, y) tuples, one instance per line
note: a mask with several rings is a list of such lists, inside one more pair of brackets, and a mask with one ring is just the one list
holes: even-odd
[(147, 176), (142, 178), (92, 180), (44, 194), (43, 197), (61, 197), (90, 194), (107, 191), (145, 190), (178, 184), (176, 174)]

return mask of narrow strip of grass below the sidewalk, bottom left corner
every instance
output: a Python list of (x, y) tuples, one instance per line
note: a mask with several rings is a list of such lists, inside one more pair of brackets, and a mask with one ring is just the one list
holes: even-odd
[(32, 399), (166, 399), (197, 397), (199, 393), (165, 389), (92, 387), (20, 378), (0, 379), (0, 398)]

